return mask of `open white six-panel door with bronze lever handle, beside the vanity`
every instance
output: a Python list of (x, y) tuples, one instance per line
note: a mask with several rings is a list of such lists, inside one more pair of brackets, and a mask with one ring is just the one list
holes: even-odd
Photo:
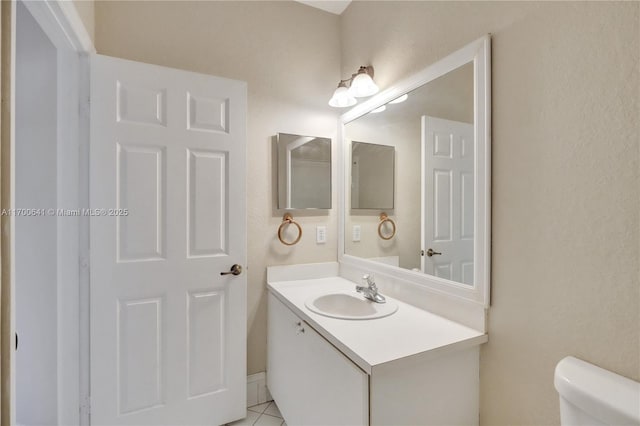
[(245, 138), (244, 82), (92, 57), (93, 424), (244, 417)]

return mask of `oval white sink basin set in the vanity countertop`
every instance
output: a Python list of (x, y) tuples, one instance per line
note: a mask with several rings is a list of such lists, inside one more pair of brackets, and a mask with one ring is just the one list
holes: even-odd
[(304, 304), (317, 314), (348, 320), (382, 318), (398, 310), (398, 305), (391, 300), (375, 303), (355, 291), (312, 296)]

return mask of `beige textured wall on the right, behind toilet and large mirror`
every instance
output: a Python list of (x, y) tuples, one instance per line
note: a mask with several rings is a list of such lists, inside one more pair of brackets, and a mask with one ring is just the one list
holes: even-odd
[(373, 64), (383, 88), (492, 33), (484, 425), (558, 424), (566, 355), (640, 379), (639, 8), (355, 2), (342, 17), (342, 74)]

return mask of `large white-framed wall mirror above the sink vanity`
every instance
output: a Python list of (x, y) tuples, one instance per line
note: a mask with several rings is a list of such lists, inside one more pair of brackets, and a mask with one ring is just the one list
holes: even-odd
[[(358, 105), (341, 121), (340, 260), (487, 306), (489, 36)], [(363, 142), (395, 155), (379, 163), (373, 177), (360, 170)], [(367, 183), (366, 199), (385, 199), (384, 205), (362, 207)], [(362, 210), (367, 208), (374, 211)], [(397, 227), (391, 239), (378, 232), (381, 213)]]

